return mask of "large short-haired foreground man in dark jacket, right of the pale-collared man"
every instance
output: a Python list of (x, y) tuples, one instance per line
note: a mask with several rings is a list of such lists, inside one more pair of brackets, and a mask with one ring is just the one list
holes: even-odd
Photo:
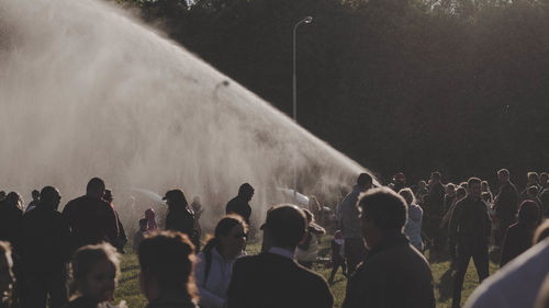
[(405, 201), (388, 187), (361, 195), (361, 229), (370, 249), (349, 280), (344, 308), (434, 308), (433, 276), (425, 258), (402, 233)]

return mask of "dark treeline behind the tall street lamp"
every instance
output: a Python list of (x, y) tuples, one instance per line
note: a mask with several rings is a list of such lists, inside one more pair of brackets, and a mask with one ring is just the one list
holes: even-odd
[(548, 1), (119, 2), (290, 116), (314, 16), (299, 122), (382, 179), (548, 168)]

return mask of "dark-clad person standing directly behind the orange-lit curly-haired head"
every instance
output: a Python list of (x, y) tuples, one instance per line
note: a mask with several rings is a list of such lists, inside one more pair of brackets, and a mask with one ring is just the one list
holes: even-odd
[(194, 233), (194, 213), (189, 208), (189, 203), (181, 190), (166, 192), (164, 198), (168, 205), (166, 215), (166, 230), (186, 233), (191, 240)]

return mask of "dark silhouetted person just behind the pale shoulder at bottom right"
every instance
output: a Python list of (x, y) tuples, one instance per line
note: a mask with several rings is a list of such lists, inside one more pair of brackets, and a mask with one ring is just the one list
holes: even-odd
[(540, 209), (533, 201), (525, 201), (518, 208), (518, 221), (512, 225), (505, 235), (502, 247), (500, 266), (528, 250), (533, 244), (533, 237), (539, 224)]

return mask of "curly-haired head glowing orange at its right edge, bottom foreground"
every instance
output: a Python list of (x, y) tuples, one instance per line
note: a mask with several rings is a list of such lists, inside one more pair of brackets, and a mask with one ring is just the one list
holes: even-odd
[(193, 278), (194, 246), (181, 232), (161, 231), (139, 246), (141, 290), (150, 303), (166, 292), (197, 297)]

